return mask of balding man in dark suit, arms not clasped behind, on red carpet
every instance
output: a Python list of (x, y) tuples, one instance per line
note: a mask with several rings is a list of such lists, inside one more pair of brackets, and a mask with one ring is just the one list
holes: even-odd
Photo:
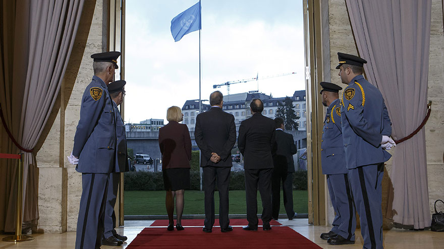
[(257, 188), (262, 200), (263, 230), (270, 230), (271, 220), (271, 174), (274, 143), (274, 121), (262, 116), (263, 102), (254, 99), (250, 104), (251, 116), (239, 127), (238, 147), (244, 156), (245, 194), (248, 225), (244, 230), (257, 230)]

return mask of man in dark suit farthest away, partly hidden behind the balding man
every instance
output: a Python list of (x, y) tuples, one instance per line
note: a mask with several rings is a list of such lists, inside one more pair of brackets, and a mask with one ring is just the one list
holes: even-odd
[(296, 213), (293, 209), (293, 173), (295, 172), (295, 162), (293, 155), (296, 154), (296, 144), (293, 135), (284, 132), (284, 119), (274, 119), (274, 146), (273, 153), (274, 170), (271, 178), (271, 203), (273, 219), (279, 218), (281, 207), (281, 179), (284, 192), (284, 207), (289, 220), (292, 220)]

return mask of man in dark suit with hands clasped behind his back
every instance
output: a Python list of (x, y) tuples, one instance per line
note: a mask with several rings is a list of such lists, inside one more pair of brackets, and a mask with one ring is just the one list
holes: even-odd
[(214, 184), (219, 190), (219, 224), (222, 232), (230, 226), (228, 186), (233, 166), (231, 150), (236, 143), (234, 116), (222, 110), (224, 96), (219, 91), (210, 95), (211, 109), (196, 117), (194, 136), (200, 148), (200, 167), (205, 189), (205, 221), (202, 230), (211, 232), (214, 224)]

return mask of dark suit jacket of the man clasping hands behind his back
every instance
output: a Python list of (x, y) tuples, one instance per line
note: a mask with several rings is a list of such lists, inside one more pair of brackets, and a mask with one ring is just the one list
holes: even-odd
[[(221, 108), (212, 107), (196, 117), (194, 137), (201, 151), (200, 166), (232, 167), (231, 150), (236, 143), (234, 116)], [(220, 156), (220, 161), (210, 160), (211, 153)]]

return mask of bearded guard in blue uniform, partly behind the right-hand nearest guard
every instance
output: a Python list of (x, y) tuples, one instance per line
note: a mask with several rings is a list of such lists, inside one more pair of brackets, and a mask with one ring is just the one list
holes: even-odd
[(322, 174), (327, 175), (331, 204), (336, 213), (333, 227), (320, 237), (329, 244), (354, 244), (356, 215), (347, 175), (338, 94), (342, 88), (330, 82), (320, 85), (322, 104), (327, 107), (321, 142)]

